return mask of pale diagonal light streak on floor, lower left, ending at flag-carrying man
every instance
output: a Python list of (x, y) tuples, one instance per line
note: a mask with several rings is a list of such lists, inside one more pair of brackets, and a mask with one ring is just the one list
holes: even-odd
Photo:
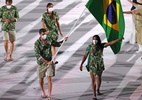
[[(14, 65), (15, 65), (15, 63), (14, 63)], [(20, 62), (17, 62), (16, 64), (19, 64), (19, 63)], [(27, 75), (27, 73), (29, 73), (30, 70), (33, 69), (33, 67), (35, 65), (36, 65), (35, 61), (30, 61), (30, 62), (26, 63), (26, 65), (23, 65), (21, 70), (19, 70), (19, 72), (17, 72), (17, 73), (8, 73), (9, 69), (13, 65), (8, 66), (9, 68), (7, 68), (7, 70), (5, 70), (5, 72), (8, 73), (8, 75), (2, 76), (0, 79), (0, 85), (2, 86), (2, 87), (0, 87), (0, 90), (2, 90), (0, 93), (0, 96), (5, 94), (5, 92), (7, 92), (13, 86), (18, 85), (19, 82), (23, 81), (25, 76)], [(21, 67), (21, 66), (19, 66), (19, 67)], [(5, 69), (5, 68), (3, 68), (3, 69)]]

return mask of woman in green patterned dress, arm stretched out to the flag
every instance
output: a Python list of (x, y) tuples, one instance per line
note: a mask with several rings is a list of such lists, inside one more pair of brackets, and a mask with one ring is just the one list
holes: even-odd
[[(98, 35), (94, 35), (92, 39), (92, 44), (88, 45), (86, 48), (86, 52), (83, 56), (82, 62), (80, 64), (80, 71), (83, 70), (83, 63), (86, 61), (88, 57), (87, 69), (90, 72), (90, 77), (92, 80), (92, 91), (93, 91), (93, 99), (97, 100), (97, 95), (101, 95), (100, 86), (102, 81), (102, 72), (104, 71), (104, 62), (103, 62), (103, 50), (107, 46), (111, 46), (123, 38), (119, 38), (113, 40), (108, 43), (101, 43), (101, 39)], [(97, 87), (96, 87), (97, 86)], [(97, 91), (96, 91), (97, 90)]]

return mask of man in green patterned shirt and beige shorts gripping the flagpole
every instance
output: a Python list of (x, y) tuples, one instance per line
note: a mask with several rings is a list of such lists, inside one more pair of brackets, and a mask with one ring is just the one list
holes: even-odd
[(52, 77), (55, 76), (55, 65), (52, 61), (51, 46), (59, 47), (68, 37), (64, 40), (57, 42), (50, 37), (50, 33), (46, 29), (39, 29), (39, 39), (34, 43), (35, 56), (37, 58), (37, 74), (39, 77), (39, 84), (42, 90), (41, 97), (47, 98), (44, 90), (44, 77), (47, 75), (48, 80), (48, 96), (52, 100)]

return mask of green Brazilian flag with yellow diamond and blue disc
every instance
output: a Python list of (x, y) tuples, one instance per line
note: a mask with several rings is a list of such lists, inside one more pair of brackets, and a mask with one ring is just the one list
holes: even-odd
[[(125, 23), (120, 0), (89, 0), (86, 7), (103, 27), (108, 42), (123, 37)], [(121, 44), (122, 41), (111, 45), (115, 54)]]

